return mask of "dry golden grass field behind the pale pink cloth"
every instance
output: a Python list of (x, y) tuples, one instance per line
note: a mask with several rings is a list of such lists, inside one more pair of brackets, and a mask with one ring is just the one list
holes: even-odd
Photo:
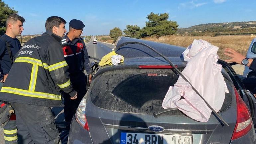
[(224, 55), (224, 49), (226, 47), (233, 48), (239, 53), (246, 55), (247, 50), (251, 44), (251, 41), (254, 37), (251, 36), (163, 36), (160, 38), (156, 37), (147, 37), (143, 38), (149, 41), (161, 42), (171, 45), (177, 45), (182, 47), (188, 47), (194, 39), (206, 40), (212, 45), (218, 46), (218, 55), (219, 59), (225, 60), (228, 57)]

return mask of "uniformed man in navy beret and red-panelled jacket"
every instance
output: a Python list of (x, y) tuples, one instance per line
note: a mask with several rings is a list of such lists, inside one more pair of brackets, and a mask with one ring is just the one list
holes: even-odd
[(87, 77), (83, 71), (85, 69), (87, 74), (90, 72), (88, 52), (83, 39), (80, 37), (83, 34), (83, 27), (82, 21), (71, 20), (69, 22), (69, 32), (61, 41), (64, 58), (69, 66), (70, 80), (74, 89), (78, 92), (76, 100), (70, 100), (69, 96), (63, 93), (64, 113), (67, 122), (71, 122), (80, 101), (86, 93)]

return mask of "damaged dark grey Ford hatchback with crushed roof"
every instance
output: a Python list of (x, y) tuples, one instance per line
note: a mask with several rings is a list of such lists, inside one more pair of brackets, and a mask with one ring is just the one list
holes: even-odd
[(125, 60), (92, 66), (93, 80), (73, 117), (68, 143), (255, 143), (255, 98), (228, 63), (219, 60), (229, 93), (218, 111), (228, 126), (215, 114), (202, 123), (178, 109), (163, 110), (164, 96), (179, 74), (166, 59), (138, 43), (153, 47), (180, 71), (186, 66), (183, 47), (120, 37), (114, 50)]

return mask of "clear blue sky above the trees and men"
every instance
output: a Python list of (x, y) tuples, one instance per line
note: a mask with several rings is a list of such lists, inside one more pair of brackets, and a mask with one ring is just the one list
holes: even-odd
[(254, 21), (256, 0), (3, 0), (26, 20), (23, 35), (41, 34), (49, 16), (85, 24), (83, 35), (109, 34), (126, 25), (145, 26), (151, 12), (169, 13), (179, 28), (219, 22)]

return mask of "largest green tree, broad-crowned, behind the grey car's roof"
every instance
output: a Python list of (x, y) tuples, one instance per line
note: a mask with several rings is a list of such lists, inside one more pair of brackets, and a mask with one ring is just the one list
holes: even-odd
[(172, 35), (178, 29), (178, 24), (175, 21), (168, 21), (169, 14), (155, 14), (151, 12), (147, 19), (146, 26), (142, 28), (142, 37), (146, 36), (164, 36), (164, 35)]

